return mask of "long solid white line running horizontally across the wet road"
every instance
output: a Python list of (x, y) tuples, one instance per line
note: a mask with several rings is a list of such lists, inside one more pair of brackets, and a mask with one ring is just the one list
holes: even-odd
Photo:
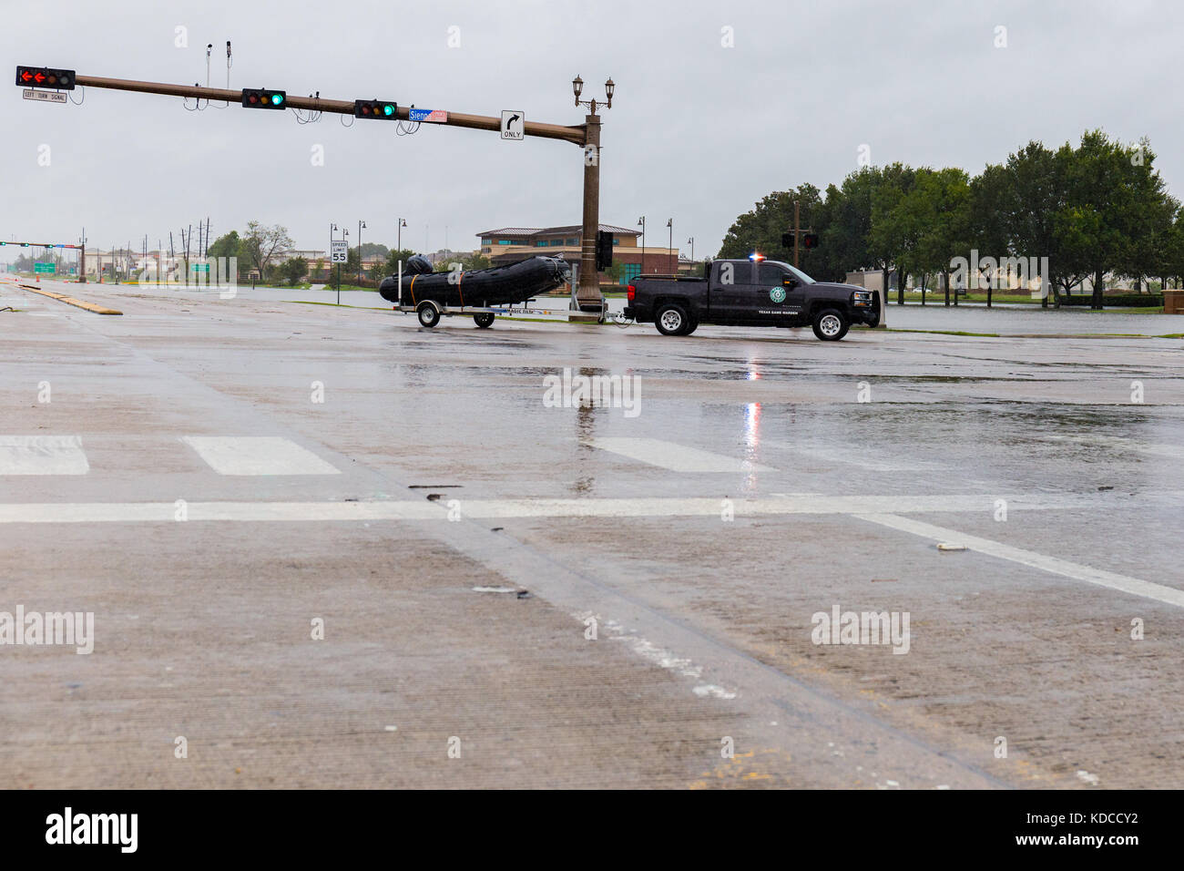
[[(934, 497), (792, 497), (733, 499), (736, 517), (776, 514), (888, 514), (892, 512), (995, 512), (990, 495)], [(1096, 497), (1056, 498), (1006, 495), (1010, 511), (1040, 511), (1098, 505)], [(721, 498), (699, 499), (462, 499), (462, 517), (475, 519), (551, 517), (719, 517)], [(0, 523), (174, 521), (174, 502), (40, 502), (0, 504)], [(432, 501), (358, 502), (187, 502), (194, 520), (435, 520), (449, 515)]]

